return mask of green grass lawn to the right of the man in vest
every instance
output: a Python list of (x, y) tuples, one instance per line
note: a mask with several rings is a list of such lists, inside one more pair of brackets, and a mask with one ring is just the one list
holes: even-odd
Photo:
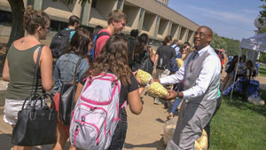
[[(211, 122), (211, 150), (264, 150), (266, 107), (243, 103), (240, 97), (224, 97)], [(262, 91), (266, 100), (266, 91)]]

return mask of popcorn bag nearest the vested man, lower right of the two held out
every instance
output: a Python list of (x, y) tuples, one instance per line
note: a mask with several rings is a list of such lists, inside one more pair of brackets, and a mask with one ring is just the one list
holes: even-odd
[(168, 91), (160, 83), (154, 82), (150, 86), (148, 94), (156, 98), (165, 98), (168, 96)]

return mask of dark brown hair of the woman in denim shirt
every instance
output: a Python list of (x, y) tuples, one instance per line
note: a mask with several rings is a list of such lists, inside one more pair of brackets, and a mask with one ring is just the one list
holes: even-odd
[(88, 45), (92, 42), (92, 39), (92, 34), (86, 28), (77, 29), (65, 53), (74, 51), (75, 54), (85, 58), (89, 51)]

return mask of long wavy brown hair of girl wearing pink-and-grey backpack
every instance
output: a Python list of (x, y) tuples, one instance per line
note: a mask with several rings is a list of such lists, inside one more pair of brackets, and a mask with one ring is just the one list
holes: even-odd
[(92, 75), (112, 71), (122, 84), (130, 83), (132, 71), (128, 65), (128, 42), (126, 38), (121, 35), (111, 36), (87, 71), (86, 76), (90, 75), (90, 71)]

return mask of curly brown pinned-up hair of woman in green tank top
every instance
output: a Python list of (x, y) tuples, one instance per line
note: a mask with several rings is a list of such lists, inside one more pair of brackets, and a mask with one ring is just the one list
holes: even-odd
[(38, 27), (45, 28), (46, 23), (49, 21), (49, 16), (46, 12), (41, 10), (34, 10), (32, 5), (28, 5), (24, 14), (23, 25), (30, 35), (35, 34)]

